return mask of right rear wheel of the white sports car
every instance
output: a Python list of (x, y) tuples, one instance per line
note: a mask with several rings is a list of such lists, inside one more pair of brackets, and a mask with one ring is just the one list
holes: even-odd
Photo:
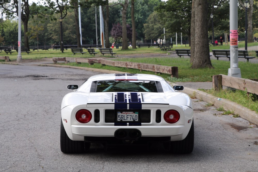
[(170, 142), (171, 153), (191, 153), (193, 151), (194, 144), (194, 124), (192, 126), (184, 140)]

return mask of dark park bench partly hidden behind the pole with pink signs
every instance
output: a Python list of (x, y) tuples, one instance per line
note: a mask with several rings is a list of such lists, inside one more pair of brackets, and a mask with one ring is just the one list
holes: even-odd
[[(230, 60), (230, 50), (212, 50), (213, 55), (217, 58), (218, 57), (226, 57)], [(219, 54), (218, 54), (219, 53)], [(249, 56), (247, 50), (238, 50), (238, 58), (245, 58), (247, 61), (249, 61), (249, 59), (253, 59), (255, 57)]]

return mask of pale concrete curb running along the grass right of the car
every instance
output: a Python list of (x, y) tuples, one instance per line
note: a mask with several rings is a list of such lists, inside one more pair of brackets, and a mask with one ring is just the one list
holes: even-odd
[[(176, 83), (171, 84), (177, 85)], [(223, 98), (220, 98), (221, 100), (218, 100), (218, 98), (213, 95), (188, 87), (184, 87), (184, 90), (182, 92), (188, 94), (191, 97), (196, 97), (199, 100), (211, 103), (217, 108), (223, 107), (227, 111), (233, 111), (234, 113), (238, 114), (241, 118), (258, 126), (258, 114), (255, 111), (243, 107), (233, 101)]]

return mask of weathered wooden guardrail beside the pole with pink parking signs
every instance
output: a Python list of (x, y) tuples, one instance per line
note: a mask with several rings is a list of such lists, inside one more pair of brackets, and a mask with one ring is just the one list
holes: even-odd
[(258, 82), (244, 79), (244, 78), (237, 78), (233, 76), (227, 75), (214, 75), (213, 76), (213, 88), (215, 90), (222, 89), (222, 86), (235, 88), (238, 90), (247, 91), (249, 93), (253, 93), (258, 95)]

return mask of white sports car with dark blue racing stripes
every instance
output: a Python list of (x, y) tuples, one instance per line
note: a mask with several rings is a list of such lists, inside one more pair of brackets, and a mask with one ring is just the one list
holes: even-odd
[(191, 98), (162, 78), (148, 74), (91, 76), (61, 104), (60, 146), (64, 153), (89, 150), (91, 142), (161, 142), (172, 153), (191, 153), (194, 144)]

